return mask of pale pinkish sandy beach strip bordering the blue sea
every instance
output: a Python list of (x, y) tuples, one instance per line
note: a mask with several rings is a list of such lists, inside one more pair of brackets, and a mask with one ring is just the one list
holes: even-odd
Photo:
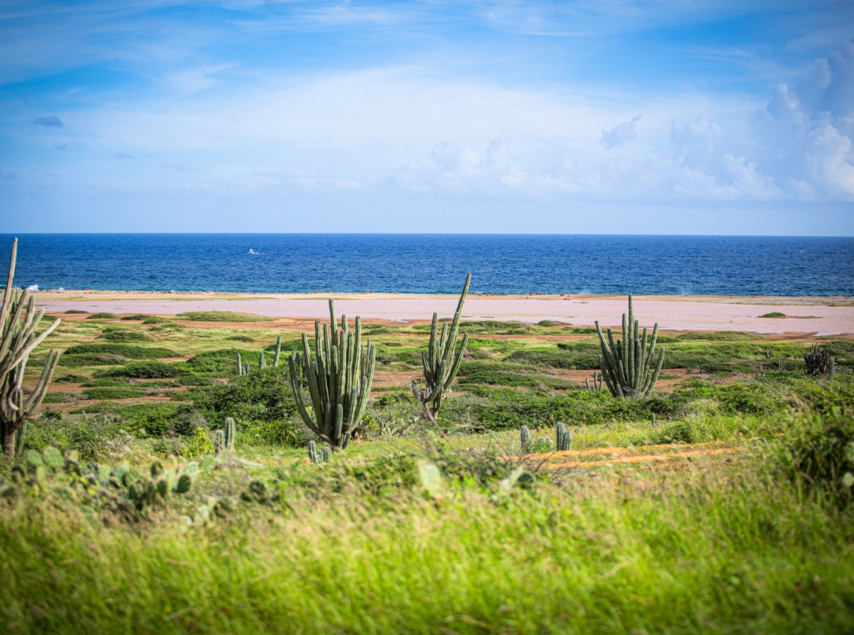
[[(67, 310), (118, 315), (177, 315), (185, 311), (235, 311), (273, 318), (313, 320), (329, 315), (334, 297), (338, 315), (363, 320), (412, 322), (453, 315), (457, 297), (400, 293), (236, 294), (147, 291), (38, 291), (36, 301), (48, 313)], [(627, 309), (624, 296), (470, 295), (465, 320), (553, 320), (574, 326), (619, 325)], [(760, 317), (782, 313), (785, 317)], [(665, 330), (744, 331), (839, 335), (854, 333), (852, 297), (635, 296), (641, 326)], [(249, 323), (251, 324), (251, 323)], [(249, 325), (247, 325), (249, 326)]]

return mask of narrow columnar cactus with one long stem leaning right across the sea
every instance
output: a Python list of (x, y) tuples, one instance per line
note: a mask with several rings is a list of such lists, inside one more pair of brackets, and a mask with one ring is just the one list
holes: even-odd
[(436, 338), (439, 315), (433, 314), (433, 326), (430, 328), (430, 345), (421, 353), (421, 362), (424, 366), (424, 388), (419, 387), (412, 379), (412, 394), (424, 405), (424, 418), (436, 420), (439, 409), (442, 408), (442, 399), (450, 392), (451, 384), (459, 370), (459, 364), (463, 361), (465, 345), (469, 343), (469, 335), (463, 335), (463, 343), (454, 353), (457, 345), (457, 333), (459, 332), (459, 317), (463, 311), (465, 297), (469, 293), (471, 285), (471, 273), (465, 276), (463, 292), (459, 296), (457, 311), (453, 314), (453, 322), (450, 329), (447, 322), (442, 323), (442, 336)]

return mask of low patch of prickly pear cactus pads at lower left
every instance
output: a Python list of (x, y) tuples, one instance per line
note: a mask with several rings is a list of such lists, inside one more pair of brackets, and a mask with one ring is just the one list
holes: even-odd
[(150, 507), (190, 491), (198, 471), (196, 463), (164, 468), (155, 461), (148, 474), (143, 474), (127, 464), (80, 463), (74, 452), (62, 456), (56, 448), (47, 447), (42, 453), (29, 450), (26, 461), (12, 470), (14, 483), (0, 483), (0, 491), (9, 496), (16, 485), (24, 485), (39, 494), (56, 494), (93, 515), (97, 509), (105, 509), (138, 520)]

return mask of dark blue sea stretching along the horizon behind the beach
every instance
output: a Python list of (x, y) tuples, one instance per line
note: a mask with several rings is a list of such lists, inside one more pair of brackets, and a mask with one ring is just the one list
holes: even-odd
[[(0, 262), (11, 240), (0, 235)], [(854, 238), (22, 234), (19, 241), (15, 282), (40, 289), (458, 293), (471, 271), (471, 290), (489, 293), (854, 295)]]

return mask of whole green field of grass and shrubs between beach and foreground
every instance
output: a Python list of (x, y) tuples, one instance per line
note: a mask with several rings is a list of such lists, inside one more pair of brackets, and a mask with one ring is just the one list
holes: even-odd
[[(819, 340), (836, 376), (812, 379), (812, 338), (663, 332), (656, 391), (617, 400), (586, 389), (591, 329), (472, 323), (427, 422), (429, 332), (366, 324), (366, 432), (318, 465), (286, 364), (258, 367), (298, 332), (134, 317), (48, 340), (67, 354), (0, 467), (3, 632), (854, 632), (852, 338)], [(140, 510), (98, 485), (155, 462), (190, 491)]]

